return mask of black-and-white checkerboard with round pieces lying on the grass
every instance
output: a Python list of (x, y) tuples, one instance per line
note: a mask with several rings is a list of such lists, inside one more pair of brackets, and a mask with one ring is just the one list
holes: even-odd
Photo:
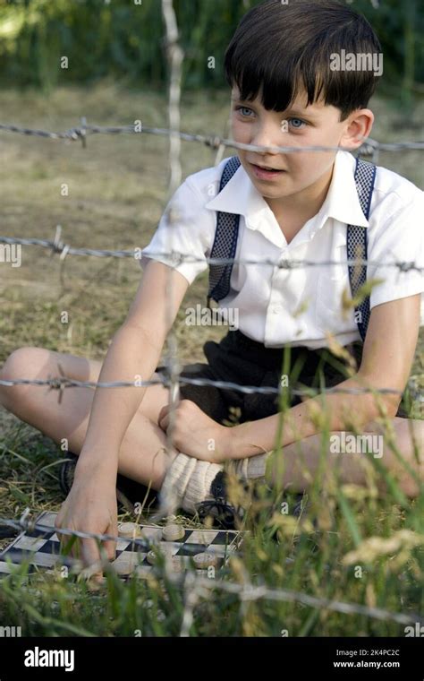
[[(50, 531), (33, 530), (22, 532), (13, 540), (9, 547), (0, 553), (0, 575), (13, 572), (13, 565), (19, 564), (24, 558), (30, 560), (30, 573), (38, 569), (53, 569), (55, 566), (66, 565), (72, 567), (73, 560), (68, 556), (60, 556), (59, 539), (55, 533), (56, 513), (41, 513), (37, 522), (51, 527)], [(178, 541), (166, 541), (162, 538), (162, 528), (152, 525), (140, 525), (142, 537), (154, 543), (168, 559), (171, 571), (180, 573), (191, 563), (191, 556), (199, 553), (214, 554), (218, 573), (228, 558), (233, 555), (242, 544), (242, 532), (237, 530), (191, 530), (184, 528), (185, 534)], [(112, 563), (117, 569), (131, 567), (138, 576), (145, 576), (155, 568), (147, 560), (147, 550), (134, 545), (131, 539), (119, 539), (116, 542), (116, 558)], [(208, 573), (208, 570), (197, 570), (197, 573)], [(124, 575), (120, 575), (123, 576)], [(208, 574), (210, 576), (210, 573)]]

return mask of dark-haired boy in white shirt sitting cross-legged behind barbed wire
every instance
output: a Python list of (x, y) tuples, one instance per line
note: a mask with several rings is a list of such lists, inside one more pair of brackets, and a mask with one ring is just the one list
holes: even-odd
[[(358, 149), (374, 120), (367, 105), (376, 75), (369, 70), (333, 70), (332, 55), (342, 49), (352, 54), (380, 53), (368, 22), (343, 4), (267, 0), (250, 10), (225, 55), (234, 140), (259, 147)], [(422, 278), (420, 272), (398, 272), (383, 263), (422, 264), (422, 192), (403, 177), (377, 168), (367, 220), (349, 151), (238, 151), (238, 157), (241, 167), (222, 192), (218, 192), (219, 181), (228, 159), (188, 177), (174, 194), (155, 237), (143, 251), (140, 289), (102, 366), (43, 349), (19, 349), (8, 358), (2, 377), (29, 375), (31, 367), (36, 367), (32, 373), (37, 377), (47, 376), (55, 372), (57, 361), (66, 375), (82, 380), (157, 377), (155, 367), (184, 294), (199, 272), (208, 268), (216, 213), (237, 214), (231, 287), (221, 306), (238, 310), (240, 328), (228, 332), (219, 344), (205, 344), (209, 363), (200, 375), (277, 386), (285, 346), (292, 353), (290, 382), (297, 379), (312, 385), (318, 372), (326, 386), (397, 391), (382, 392), (378, 399), (372, 392), (326, 394), (325, 405), (319, 396), (293, 399), (282, 434), (284, 479), (278, 478), (276, 466), (269, 481), (300, 491), (308, 487), (318, 468), (319, 418), (326, 409), (330, 431), (340, 435), (346, 422), (353, 420), (364, 433), (378, 433), (375, 419), (383, 408), (392, 419), (397, 447), (416, 477), (408, 474), (389, 447), (381, 461), (399, 478), (407, 495), (417, 495), (416, 478), (422, 478), (422, 472), (413, 453), (414, 442), (422, 443), (423, 424), (395, 415), (417, 343)], [(344, 318), (340, 302), (349, 286), (344, 262), (347, 224), (368, 230), (368, 259), (373, 264), (367, 277), (383, 280), (371, 291), (363, 354), (353, 308)], [(177, 264), (171, 256), (155, 255), (171, 248), (196, 259)], [(290, 270), (277, 267), (280, 258), (340, 264)], [(276, 266), (243, 264), (249, 259), (271, 259)], [(328, 348), (326, 331), (360, 360), (354, 375), (346, 373), (347, 359), (343, 363)], [(296, 375), (299, 363), (301, 375)], [(186, 372), (190, 375), (190, 370)], [(94, 399), (86, 389), (65, 391), (60, 408), (52, 393), (39, 401), (38, 388), (19, 386), (1, 394), (7, 409), (57, 442), (67, 437), (69, 448), (80, 453), (71, 492), (58, 515), (58, 529), (116, 535), (118, 469), (160, 490), (165, 503), (172, 499), (186, 511), (208, 511), (210, 504), (225, 497), (224, 461), (233, 462), (241, 479), (263, 478), (268, 453), (276, 444), (275, 395), (244, 396), (216, 387), (182, 386), (174, 447), (166, 453), (169, 396), (162, 385), (136, 391), (98, 389)], [(222, 419), (234, 405), (242, 410), (242, 422), (225, 427)], [(215, 443), (213, 452), (210, 441)], [(338, 467), (343, 482), (363, 484), (361, 460), (366, 457), (330, 451), (328, 470)], [(98, 558), (94, 541), (83, 540), (81, 545), (87, 562)], [(105, 547), (112, 558), (114, 545), (106, 542)]]

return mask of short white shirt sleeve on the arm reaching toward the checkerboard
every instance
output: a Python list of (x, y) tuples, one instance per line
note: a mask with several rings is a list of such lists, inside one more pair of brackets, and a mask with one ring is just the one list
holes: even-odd
[(140, 266), (149, 259), (172, 267), (191, 284), (208, 269), (206, 253), (213, 235), (213, 215), (200, 192), (186, 179), (166, 205), (157, 230), (143, 248)]

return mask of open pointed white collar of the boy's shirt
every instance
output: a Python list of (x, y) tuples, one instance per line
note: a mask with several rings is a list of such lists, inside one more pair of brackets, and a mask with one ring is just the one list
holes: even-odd
[[(360, 208), (360, 200), (354, 179), (354, 169), (355, 159), (352, 154), (349, 151), (337, 151), (333, 177), (326, 194), (326, 200), (315, 218), (311, 219), (314, 222), (315, 228), (311, 229), (310, 237), (323, 227), (327, 218), (334, 218), (346, 224), (369, 227), (369, 221)], [(212, 201), (206, 204), (206, 208), (211, 211), (243, 215), (249, 228), (259, 228), (259, 222), (265, 215), (268, 218), (271, 217), (271, 222), (274, 217), (275, 225), (278, 226), (274, 213), (269, 208), (264, 197), (259, 194), (255, 185), (250, 181), (250, 177), (242, 166), (237, 168), (224, 189)], [(269, 213), (271, 213), (271, 216)], [(268, 228), (271, 228), (271, 225), (268, 224)], [(279, 227), (278, 231), (281, 235)]]

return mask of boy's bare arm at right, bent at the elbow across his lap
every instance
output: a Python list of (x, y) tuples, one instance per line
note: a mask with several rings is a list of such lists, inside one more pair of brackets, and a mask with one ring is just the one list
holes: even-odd
[[(420, 328), (420, 294), (373, 307), (364, 343), (360, 369), (337, 389), (394, 389), (403, 392), (411, 371)], [(283, 446), (320, 432), (319, 416), (328, 418), (329, 430), (345, 430), (354, 421), (363, 427), (380, 415), (378, 403), (394, 417), (400, 394), (324, 394), (289, 409), (284, 417)], [(311, 418), (312, 417), (312, 418)], [(225, 458), (242, 459), (259, 453), (258, 446), (270, 452), (276, 447), (276, 414), (231, 428)]]

